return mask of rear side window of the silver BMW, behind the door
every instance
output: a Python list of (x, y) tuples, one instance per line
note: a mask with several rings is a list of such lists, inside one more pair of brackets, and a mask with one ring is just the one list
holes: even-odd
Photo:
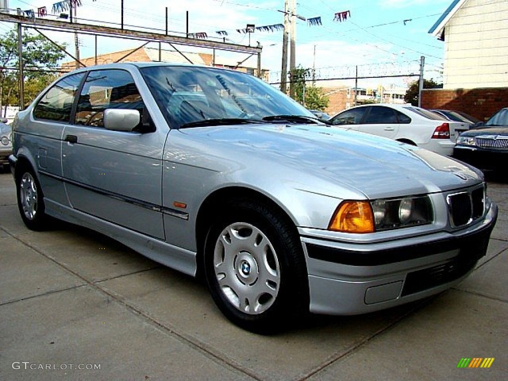
[(36, 119), (69, 122), (74, 96), (84, 73), (74, 74), (56, 82), (41, 98), (34, 109)]

